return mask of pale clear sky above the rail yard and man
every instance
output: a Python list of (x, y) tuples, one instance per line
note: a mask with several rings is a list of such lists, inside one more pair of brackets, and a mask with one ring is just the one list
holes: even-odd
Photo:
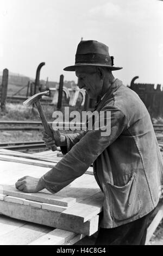
[(114, 56), (114, 76), (163, 84), (163, 2), (159, 0), (0, 0), (0, 71), (77, 81), (77, 45), (97, 40)]

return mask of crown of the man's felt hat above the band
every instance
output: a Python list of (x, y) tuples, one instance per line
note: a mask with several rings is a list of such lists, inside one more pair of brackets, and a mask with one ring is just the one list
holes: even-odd
[(95, 40), (80, 41), (77, 47), (77, 54), (104, 54), (109, 56), (109, 47), (102, 42)]

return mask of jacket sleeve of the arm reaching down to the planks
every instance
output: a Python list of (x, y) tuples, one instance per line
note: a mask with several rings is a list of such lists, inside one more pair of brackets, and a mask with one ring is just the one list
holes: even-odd
[[(120, 109), (111, 106), (105, 107), (101, 111), (104, 112), (104, 115), (99, 114), (99, 128), (97, 129), (99, 122), (95, 122), (93, 129), (87, 131), (61, 161), (41, 177), (40, 181), (47, 190), (57, 193), (74, 179), (83, 175), (91, 163), (127, 127), (127, 118)], [(105, 135), (103, 133), (104, 124), (108, 128), (108, 133)]]

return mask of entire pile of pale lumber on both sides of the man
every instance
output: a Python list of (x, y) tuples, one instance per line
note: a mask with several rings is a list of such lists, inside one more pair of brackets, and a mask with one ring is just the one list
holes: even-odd
[[(96, 232), (103, 196), (89, 175), (93, 174), (92, 167), (56, 194), (47, 190), (22, 193), (13, 185), (24, 175), (39, 178), (61, 157), (59, 150), (36, 154), (0, 151), (1, 183), (4, 184), (0, 186), (0, 245), (72, 245)], [(162, 216), (160, 201), (147, 230), (146, 244)]]

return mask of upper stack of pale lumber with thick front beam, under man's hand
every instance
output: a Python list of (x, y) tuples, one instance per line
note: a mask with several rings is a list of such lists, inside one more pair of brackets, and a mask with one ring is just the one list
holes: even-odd
[[(22, 176), (40, 178), (53, 166), (49, 155), (0, 152), (0, 214), (37, 224), (64, 229), (73, 234), (92, 235), (98, 230), (103, 194), (90, 171), (56, 194), (47, 190), (23, 193), (14, 187)], [(16, 154), (16, 155), (13, 155)], [(17, 155), (20, 154), (20, 155)], [(35, 158), (33, 158), (33, 157)], [(42, 157), (42, 159), (41, 159)]]

